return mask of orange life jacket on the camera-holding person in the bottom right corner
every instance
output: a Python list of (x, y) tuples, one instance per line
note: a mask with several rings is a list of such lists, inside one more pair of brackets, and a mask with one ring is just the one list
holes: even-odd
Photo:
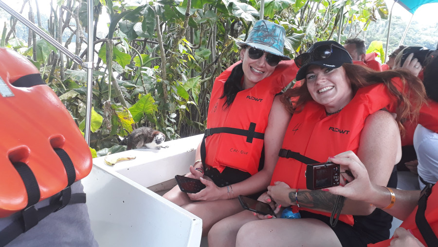
[[(427, 222), (429, 223), (430, 227), (432, 228), (433, 232), (435, 233), (435, 235), (438, 236), (438, 191), (437, 190), (438, 190), (438, 186), (432, 187), (432, 193), (427, 199), (427, 207), (424, 212), (424, 216)], [(424, 246), (427, 246), (415, 221), (417, 210), (418, 210), (418, 206), (414, 209), (414, 211), (412, 211), (411, 214), (409, 214), (409, 216), (403, 221), (400, 227), (405, 229), (411, 229), (412, 234), (416, 238), (418, 238), (418, 240), (420, 240), (420, 242)], [(389, 246), (391, 240), (392, 238), (376, 244), (369, 244), (368, 247), (386, 247)]]

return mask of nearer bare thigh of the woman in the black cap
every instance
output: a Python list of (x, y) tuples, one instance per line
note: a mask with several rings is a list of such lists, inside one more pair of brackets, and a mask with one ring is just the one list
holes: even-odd
[(237, 233), (236, 247), (341, 247), (329, 226), (316, 219), (268, 219), (249, 222)]

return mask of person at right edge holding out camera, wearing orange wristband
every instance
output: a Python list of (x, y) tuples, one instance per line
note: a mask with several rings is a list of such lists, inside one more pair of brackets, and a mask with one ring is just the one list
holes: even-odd
[[(342, 173), (348, 181), (346, 185), (322, 189), (323, 191), (370, 203), (403, 221), (391, 239), (368, 245), (368, 247), (438, 246), (436, 236), (438, 234), (438, 192), (436, 187), (431, 189), (431, 186), (428, 186), (426, 190), (420, 191), (399, 190), (376, 185), (370, 181), (364, 164), (351, 151), (329, 157), (329, 161), (340, 164), (341, 171), (351, 171), (353, 177)], [(341, 179), (341, 182), (343, 181)], [(427, 222), (422, 219), (427, 219)], [(426, 223), (432, 232), (423, 231)]]

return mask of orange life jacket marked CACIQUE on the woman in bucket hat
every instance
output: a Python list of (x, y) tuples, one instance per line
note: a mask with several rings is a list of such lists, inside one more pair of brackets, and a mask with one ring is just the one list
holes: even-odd
[[(226, 107), (226, 97), (219, 97), (223, 94), (225, 81), (238, 63), (220, 74), (213, 85), (208, 107), (205, 163), (220, 172), (231, 167), (253, 175), (258, 171), (263, 135), (274, 96), (295, 78), (298, 68), (293, 60), (281, 61), (271, 76), (238, 92), (233, 103)], [(221, 133), (214, 132), (215, 128), (222, 127), (243, 131), (248, 136), (221, 132), (223, 129), (216, 129)]]

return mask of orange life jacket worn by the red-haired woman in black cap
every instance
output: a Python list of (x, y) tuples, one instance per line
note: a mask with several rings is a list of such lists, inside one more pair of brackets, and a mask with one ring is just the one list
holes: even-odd
[[(359, 89), (341, 112), (329, 116), (324, 106), (311, 100), (305, 104), (303, 111), (292, 115), (282, 149), (299, 152), (319, 162), (325, 162), (329, 156), (348, 150), (357, 153), (365, 118), (393, 100), (395, 98), (389, 95), (381, 83)], [(306, 167), (306, 164), (296, 159), (280, 155), (271, 185), (282, 181), (294, 189), (307, 189), (304, 174)], [(330, 216), (330, 213), (303, 207), (300, 209)], [(342, 214), (339, 219), (353, 225), (351, 215)]]

